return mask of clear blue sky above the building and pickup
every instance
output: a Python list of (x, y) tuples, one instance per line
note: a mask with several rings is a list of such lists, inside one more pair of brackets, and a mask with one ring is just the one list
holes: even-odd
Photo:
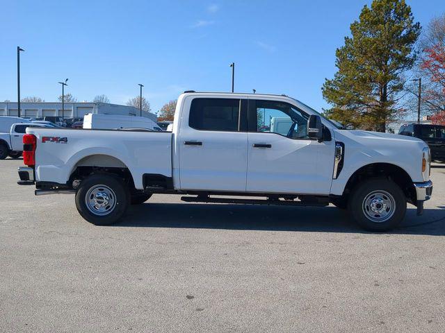
[[(55, 101), (58, 81), (79, 101), (144, 96), (152, 111), (186, 89), (289, 94), (317, 110), (335, 49), (371, 1), (10, 1), (0, 0), (0, 101)], [(407, 0), (426, 26), (444, 0)]]

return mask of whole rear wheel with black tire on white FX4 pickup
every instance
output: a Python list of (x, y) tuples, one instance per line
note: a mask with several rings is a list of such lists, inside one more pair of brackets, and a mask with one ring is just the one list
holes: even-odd
[[(130, 196), (127, 185), (120, 178), (97, 174), (82, 180), (75, 200), (83, 219), (94, 225), (111, 225), (127, 211)], [(95, 200), (97, 205), (93, 207)]]

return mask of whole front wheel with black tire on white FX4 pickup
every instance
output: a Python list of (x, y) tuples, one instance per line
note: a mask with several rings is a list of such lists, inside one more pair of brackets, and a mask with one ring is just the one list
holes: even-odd
[(387, 178), (371, 178), (353, 189), (348, 210), (362, 228), (382, 232), (403, 221), (406, 203), (405, 194), (395, 182)]

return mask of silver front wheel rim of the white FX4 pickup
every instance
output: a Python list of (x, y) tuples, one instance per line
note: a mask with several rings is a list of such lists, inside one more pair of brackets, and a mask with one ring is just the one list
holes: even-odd
[(396, 212), (396, 200), (387, 191), (372, 191), (363, 200), (363, 212), (375, 223), (388, 221)]

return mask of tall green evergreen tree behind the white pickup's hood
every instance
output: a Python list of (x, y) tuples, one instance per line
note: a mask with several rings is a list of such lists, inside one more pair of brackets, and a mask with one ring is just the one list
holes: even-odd
[(385, 132), (386, 121), (400, 111), (398, 93), (405, 83), (403, 73), (416, 60), (414, 43), (420, 30), (405, 0), (365, 5), (359, 21), (350, 25), (351, 37), (336, 51), (337, 73), (323, 85), (323, 97), (332, 104), (327, 117)]

